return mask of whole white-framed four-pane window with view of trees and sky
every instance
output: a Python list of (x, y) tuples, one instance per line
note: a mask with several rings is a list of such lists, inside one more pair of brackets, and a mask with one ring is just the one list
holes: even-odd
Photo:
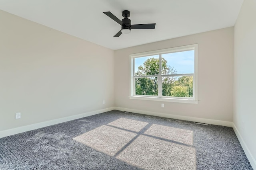
[(197, 44), (130, 55), (130, 99), (197, 104)]

